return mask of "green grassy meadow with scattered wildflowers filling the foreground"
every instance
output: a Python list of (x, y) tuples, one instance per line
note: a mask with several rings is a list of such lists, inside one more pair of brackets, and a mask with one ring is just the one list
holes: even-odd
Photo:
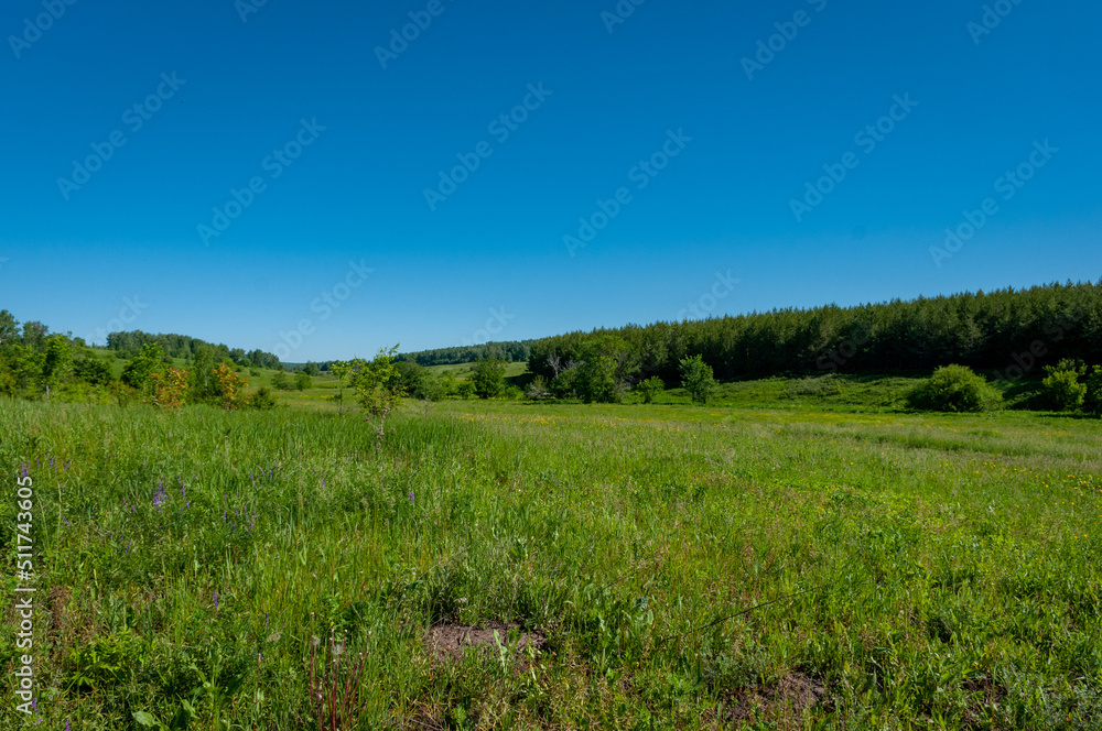
[[(408, 404), (380, 439), (315, 384), (274, 412), (0, 402), (41, 728), (317, 728), (334, 644), (342, 689), (363, 656), (347, 728), (1102, 728), (1098, 419), (776, 380)], [(500, 644), (433, 644), (457, 624)]]

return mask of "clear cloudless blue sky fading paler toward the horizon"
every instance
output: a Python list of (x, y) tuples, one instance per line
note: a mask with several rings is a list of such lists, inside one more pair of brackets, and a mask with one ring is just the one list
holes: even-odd
[[(1102, 272), (1098, 3), (1004, 0), (988, 33), (984, 3), (959, 0), (647, 0), (620, 3), (624, 22), (602, 17), (614, 0), (249, 1), (77, 0), (56, 20), (4, 3), (0, 307), (78, 336), (123, 315), (264, 350), (310, 319), (284, 351), (304, 361), (482, 339), (490, 308), (494, 339), (522, 339), (693, 317), (690, 303), (737, 314)], [(431, 24), (380, 61), (411, 12)], [(525, 101), (514, 129), (490, 127)], [(325, 129), (287, 150), (301, 120)], [(890, 131), (857, 137), (877, 123)], [(691, 141), (666, 144), (679, 131)], [(125, 144), (75, 173), (112, 133)], [(479, 142), (489, 156), (430, 205)], [(678, 152), (663, 170), (633, 171), (663, 145)], [(845, 178), (804, 199), (824, 165)], [(1019, 165), (1028, 182), (1000, 179)], [(262, 192), (204, 241), (253, 177)], [(571, 255), (563, 237), (622, 187), (629, 203)], [(973, 237), (931, 254), (986, 198), (997, 210)], [(374, 273), (345, 290), (350, 261)], [(738, 283), (712, 299), (728, 271)]]

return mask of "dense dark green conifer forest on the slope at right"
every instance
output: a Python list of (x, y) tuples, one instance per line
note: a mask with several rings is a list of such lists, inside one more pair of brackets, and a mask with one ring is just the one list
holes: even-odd
[(930, 372), (952, 363), (1016, 381), (1060, 358), (1102, 363), (1102, 281), (570, 332), (532, 343), (549, 384), (602, 371), (626, 388), (701, 356), (724, 380)]

